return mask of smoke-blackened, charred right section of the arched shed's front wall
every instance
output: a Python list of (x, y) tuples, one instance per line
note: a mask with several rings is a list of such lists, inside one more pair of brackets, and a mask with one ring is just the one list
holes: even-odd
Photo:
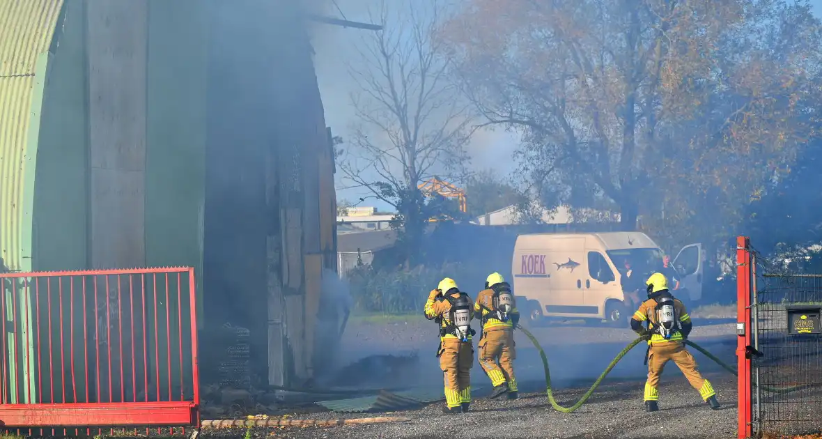
[(252, 361), (270, 384), (298, 385), (313, 377), (322, 349), (322, 269), (326, 252), (335, 254), (312, 49), (298, 5), (209, 4), (207, 308), (248, 322)]

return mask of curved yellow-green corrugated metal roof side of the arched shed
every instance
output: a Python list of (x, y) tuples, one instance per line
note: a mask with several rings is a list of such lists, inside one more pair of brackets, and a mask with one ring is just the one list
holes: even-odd
[(44, 60), (61, 8), (62, 0), (0, 2), (0, 257), (12, 270), (31, 264)]

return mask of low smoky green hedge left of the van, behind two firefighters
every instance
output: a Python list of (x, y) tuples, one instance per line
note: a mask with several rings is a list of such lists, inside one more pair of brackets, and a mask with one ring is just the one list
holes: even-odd
[(440, 280), (454, 279), (459, 289), (475, 298), (488, 273), (469, 266), (445, 264), (439, 267), (417, 266), (410, 270), (373, 270), (358, 266), (349, 271), (347, 280), (355, 312), (409, 314), (423, 312), (425, 300)]

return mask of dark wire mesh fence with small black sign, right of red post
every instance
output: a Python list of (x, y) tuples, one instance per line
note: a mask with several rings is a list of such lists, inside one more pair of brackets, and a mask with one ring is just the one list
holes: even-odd
[(754, 436), (822, 432), (822, 274), (750, 254)]

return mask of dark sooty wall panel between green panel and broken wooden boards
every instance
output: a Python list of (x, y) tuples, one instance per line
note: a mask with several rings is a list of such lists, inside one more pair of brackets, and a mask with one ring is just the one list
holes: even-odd
[[(250, 331), (253, 379), (266, 381), (266, 150), (275, 57), (267, 2), (218, 0), (207, 7), (203, 295), (209, 326)], [(212, 330), (206, 327), (205, 331)], [(208, 349), (205, 346), (204, 349)], [(215, 347), (216, 349), (216, 347)]]

